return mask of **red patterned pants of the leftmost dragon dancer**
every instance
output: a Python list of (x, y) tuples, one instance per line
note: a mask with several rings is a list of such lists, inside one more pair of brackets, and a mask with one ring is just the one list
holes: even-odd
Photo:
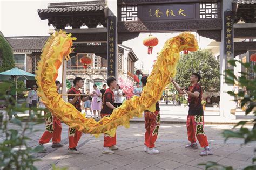
[(46, 115), (45, 128), (44, 134), (39, 139), (39, 144), (49, 143), (51, 138), (53, 143), (60, 143), (62, 134), (62, 123), (60, 120), (51, 114)]

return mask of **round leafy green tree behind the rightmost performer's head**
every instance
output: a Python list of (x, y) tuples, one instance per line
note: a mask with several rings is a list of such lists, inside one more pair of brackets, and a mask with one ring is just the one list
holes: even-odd
[(181, 55), (176, 68), (175, 80), (181, 87), (188, 87), (191, 74), (199, 73), (202, 77), (200, 84), (203, 90), (209, 90), (211, 87), (216, 90), (220, 89), (219, 61), (215, 60), (208, 50), (198, 50)]

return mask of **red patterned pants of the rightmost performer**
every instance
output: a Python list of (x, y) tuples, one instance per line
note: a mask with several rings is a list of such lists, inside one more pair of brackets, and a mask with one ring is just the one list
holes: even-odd
[(204, 132), (204, 116), (187, 115), (187, 135), (188, 141), (191, 143), (198, 140), (201, 147), (206, 147), (209, 145), (207, 136)]

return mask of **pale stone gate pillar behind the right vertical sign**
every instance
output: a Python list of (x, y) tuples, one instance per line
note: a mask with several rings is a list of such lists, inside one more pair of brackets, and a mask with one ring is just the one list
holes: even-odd
[[(235, 115), (231, 114), (231, 112), (235, 109), (234, 97), (231, 97), (227, 94), (227, 91), (233, 90), (233, 84), (225, 83), (224, 70), (227, 65), (227, 55), (225, 53), (225, 18), (224, 12), (232, 10), (232, 0), (222, 1), (222, 30), (221, 30), (221, 45), (220, 45), (220, 116), (228, 119), (235, 119)], [(233, 43), (233, 42), (232, 42)], [(233, 51), (232, 51), (233, 53)]]

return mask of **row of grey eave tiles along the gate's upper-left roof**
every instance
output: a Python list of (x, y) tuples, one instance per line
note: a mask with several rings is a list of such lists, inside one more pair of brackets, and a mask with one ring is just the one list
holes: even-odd
[(82, 11), (100, 11), (104, 10), (105, 6), (75, 6), (75, 7), (62, 7), (62, 8), (46, 8), (38, 9), (38, 13), (57, 13), (57, 12), (82, 12)]

